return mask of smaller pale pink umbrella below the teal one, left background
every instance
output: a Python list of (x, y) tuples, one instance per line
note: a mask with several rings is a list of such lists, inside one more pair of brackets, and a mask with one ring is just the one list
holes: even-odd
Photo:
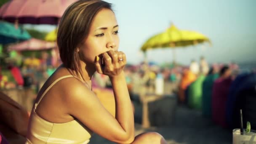
[(35, 38), (31, 38), (30, 40), (26, 40), (15, 45), (10, 45), (8, 47), (8, 51), (40, 51), (48, 50), (55, 47), (55, 42), (47, 42), (44, 40), (37, 40)]

